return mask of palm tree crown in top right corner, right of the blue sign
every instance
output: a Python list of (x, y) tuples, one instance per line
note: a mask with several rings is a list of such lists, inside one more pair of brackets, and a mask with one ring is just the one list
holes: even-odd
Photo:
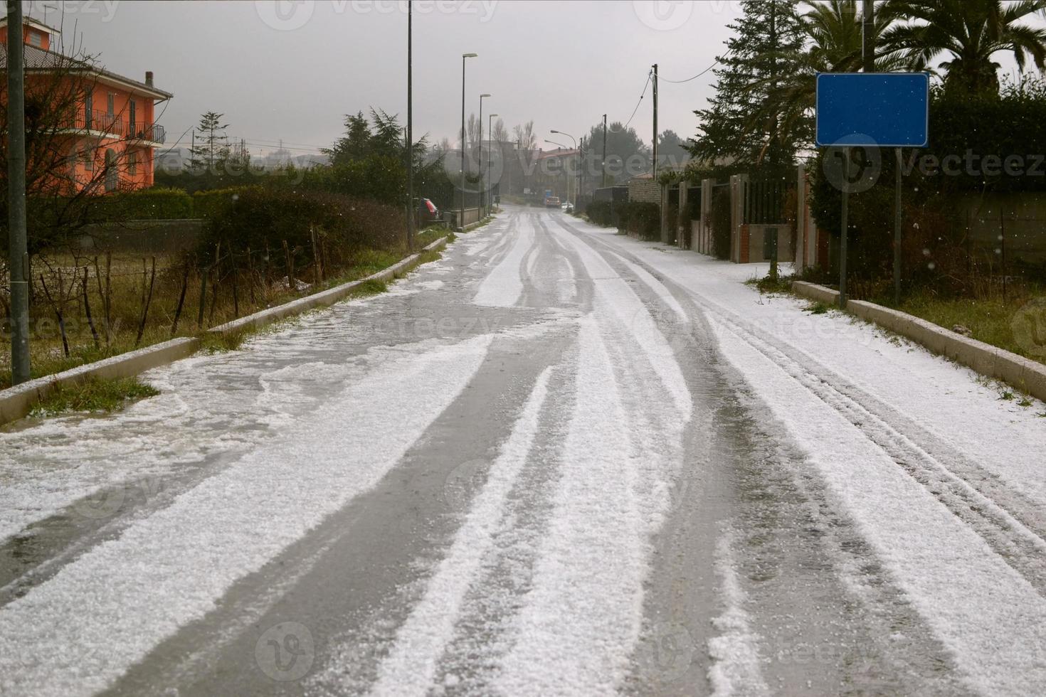
[(998, 93), (999, 64), (992, 61), (998, 51), (1011, 52), (1022, 71), (1028, 59), (1046, 68), (1046, 29), (1020, 22), (1046, 11), (1046, 0), (888, 0), (885, 6), (904, 20), (882, 37), (890, 55), (915, 70), (950, 55), (941, 64), (946, 89)]

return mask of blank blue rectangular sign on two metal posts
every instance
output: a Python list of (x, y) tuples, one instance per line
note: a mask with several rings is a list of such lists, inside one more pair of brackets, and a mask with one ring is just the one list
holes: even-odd
[(929, 138), (928, 73), (818, 73), (818, 145), (926, 147)]

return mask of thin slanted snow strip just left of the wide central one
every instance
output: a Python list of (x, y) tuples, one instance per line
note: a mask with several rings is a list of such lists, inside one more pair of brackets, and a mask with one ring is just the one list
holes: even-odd
[(529, 456), (551, 371), (546, 368), (538, 377), (454, 543), (429, 580), (425, 597), (396, 632), (395, 643), (379, 668), (372, 693), (428, 693), (437, 660), (453, 638), (454, 624), (469, 586), (480, 573), (483, 557), (493, 545), (493, 535), (504, 514), (505, 499)]

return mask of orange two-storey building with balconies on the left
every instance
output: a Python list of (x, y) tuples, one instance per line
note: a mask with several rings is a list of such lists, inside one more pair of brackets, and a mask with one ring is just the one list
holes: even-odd
[[(49, 110), (37, 119), (48, 131), (47, 144), (27, 152), (29, 167), (47, 167), (54, 182), (74, 191), (106, 191), (153, 185), (155, 149), (164, 142), (156, 123), (156, 104), (174, 95), (144, 82), (117, 75), (91, 63), (52, 50), (58, 29), (25, 19), (26, 115), (32, 100)], [(0, 19), (0, 69), (6, 69), (7, 20)], [(4, 90), (6, 101), (6, 90)]]

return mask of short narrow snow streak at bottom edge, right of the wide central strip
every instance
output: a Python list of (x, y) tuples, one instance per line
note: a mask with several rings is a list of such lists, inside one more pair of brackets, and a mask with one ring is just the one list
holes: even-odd
[(746, 594), (734, 570), (732, 534), (724, 531), (715, 543), (715, 573), (720, 577), (726, 608), (712, 620), (719, 631), (708, 640), (708, 679), (713, 697), (770, 694), (759, 671), (758, 634), (752, 631), (745, 610)]

